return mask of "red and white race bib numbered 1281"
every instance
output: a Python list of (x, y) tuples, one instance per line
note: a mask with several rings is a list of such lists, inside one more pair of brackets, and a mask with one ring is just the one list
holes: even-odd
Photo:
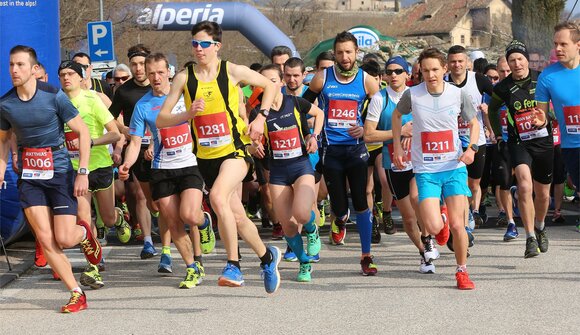
[(217, 148), (232, 142), (226, 112), (197, 115), (193, 122), (200, 146)]

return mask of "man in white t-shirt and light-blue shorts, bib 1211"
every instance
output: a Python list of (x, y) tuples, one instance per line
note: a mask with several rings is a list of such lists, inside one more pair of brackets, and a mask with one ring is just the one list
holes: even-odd
[[(480, 126), (471, 99), (461, 89), (443, 80), (447, 64), (435, 48), (419, 56), (425, 82), (407, 90), (393, 112), (393, 159), (398, 169), (406, 166), (401, 145), (402, 116), (413, 112), (411, 162), (419, 194), (419, 213), (428, 233), (444, 245), (453, 233), (457, 268), (457, 288), (471, 290), (475, 284), (467, 273), (467, 233), (464, 227), (467, 197), (466, 164), (473, 163), (478, 151)], [(459, 139), (458, 117), (469, 123), (469, 145), (464, 152)], [(447, 205), (448, 220), (440, 212), (441, 197)], [(449, 223), (448, 223), (449, 222)]]

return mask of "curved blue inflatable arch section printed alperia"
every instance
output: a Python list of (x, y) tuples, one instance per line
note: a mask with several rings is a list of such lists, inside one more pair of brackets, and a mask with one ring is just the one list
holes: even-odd
[(298, 57), (294, 43), (256, 8), (239, 2), (163, 2), (143, 8), (137, 23), (156, 30), (191, 30), (197, 22), (217, 22), (223, 30), (243, 34), (265, 55), (277, 45), (289, 47)]

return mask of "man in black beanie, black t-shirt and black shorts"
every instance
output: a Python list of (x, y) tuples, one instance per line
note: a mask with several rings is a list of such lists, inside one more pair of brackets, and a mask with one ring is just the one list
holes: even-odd
[[(498, 109), (508, 108), (507, 147), (515, 169), (518, 208), (526, 230), (525, 258), (548, 251), (544, 219), (550, 202), (554, 148), (550, 118), (536, 108), (538, 72), (530, 70), (526, 45), (513, 40), (506, 48), (512, 73), (493, 89), (490, 116), (494, 133), (501, 134)], [(502, 141), (501, 135), (497, 140)], [(535, 234), (534, 234), (535, 230)]]

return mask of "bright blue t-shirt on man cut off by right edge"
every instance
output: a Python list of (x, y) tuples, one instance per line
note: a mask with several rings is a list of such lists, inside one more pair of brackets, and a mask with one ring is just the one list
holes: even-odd
[(550, 100), (560, 126), (562, 148), (580, 148), (580, 66), (570, 70), (555, 63), (540, 74), (536, 101)]

